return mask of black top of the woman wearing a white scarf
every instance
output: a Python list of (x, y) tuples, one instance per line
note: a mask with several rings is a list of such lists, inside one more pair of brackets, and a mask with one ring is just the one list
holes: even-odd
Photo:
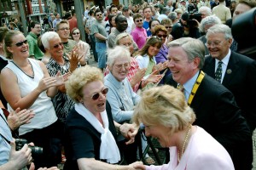
[[(116, 139), (116, 131), (113, 124), (111, 107), (106, 103), (106, 111), (108, 114), (109, 130)], [(84, 119), (84, 116), (79, 115), (73, 108), (67, 116), (65, 126), (65, 155), (67, 161), (64, 169), (76, 170), (79, 169), (77, 160), (79, 158), (95, 158), (100, 160), (101, 133)], [(111, 151), (111, 150), (109, 150)], [(101, 160), (104, 161), (104, 160)]]

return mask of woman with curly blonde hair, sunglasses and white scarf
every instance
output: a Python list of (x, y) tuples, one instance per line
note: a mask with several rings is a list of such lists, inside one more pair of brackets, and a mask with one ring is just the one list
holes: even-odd
[[(109, 89), (103, 84), (102, 71), (86, 65), (73, 71), (66, 82), (67, 94), (76, 102), (67, 116), (64, 169), (133, 169), (133, 165), (111, 165), (120, 161), (115, 142), (116, 129), (128, 143), (133, 142), (137, 129), (131, 124), (113, 122), (106, 101)], [(129, 135), (128, 135), (129, 132)], [(111, 164), (108, 164), (111, 163)]]

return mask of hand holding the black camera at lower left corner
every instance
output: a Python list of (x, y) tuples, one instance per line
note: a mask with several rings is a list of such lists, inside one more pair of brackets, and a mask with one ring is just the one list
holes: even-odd
[(17, 169), (25, 167), (29, 162), (32, 161), (32, 150), (28, 148), (27, 144), (24, 144), (21, 150), (18, 151), (15, 150), (15, 141), (11, 141), (10, 144), (11, 150), (9, 153), (9, 161), (13, 162)]

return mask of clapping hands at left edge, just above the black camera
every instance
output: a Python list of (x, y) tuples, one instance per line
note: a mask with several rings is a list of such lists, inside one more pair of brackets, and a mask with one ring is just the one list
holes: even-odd
[(16, 111), (10, 111), (8, 116), (8, 124), (12, 130), (20, 127), (23, 124), (27, 124), (31, 122), (31, 119), (35, 116), (35, 113), (32, 110), (22, 110), (20, 111), (20, 107), (16, 109)]

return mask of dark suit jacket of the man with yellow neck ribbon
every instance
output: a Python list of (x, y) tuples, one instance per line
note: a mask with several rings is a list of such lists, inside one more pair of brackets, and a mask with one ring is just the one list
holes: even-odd
[[(170, 78), (170, 85), (177, 87)], [(251, 138), (233, 94), (212, 77), (205, 75), (190, 106), (196, 115), (194, 124), (203, 127), (229, 152)]]

